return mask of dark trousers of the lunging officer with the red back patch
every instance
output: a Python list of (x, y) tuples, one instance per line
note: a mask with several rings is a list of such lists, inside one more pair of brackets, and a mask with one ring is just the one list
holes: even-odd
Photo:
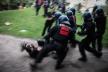
[(59, 66), (63, 62), (63, 60), (67, 54), (68, 48), (67, 48), (67, 46), (59, 44), (59, 43), (55, 43), (55, 42), (49, 43), (41, 50), (41, 52), (37, 56), (36, 63), (40, 63), (42, 61), (42, 59), (45, 57), (45, 55), (47, 55), (51, 51), (56, 51), (56, 53), (57, 53), (56, 66)]

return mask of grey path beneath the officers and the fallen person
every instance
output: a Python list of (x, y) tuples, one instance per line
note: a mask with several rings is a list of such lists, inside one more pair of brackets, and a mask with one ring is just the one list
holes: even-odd
[(70, 48), (62, 69), (55, 70), (56, 60), (51, 56), (44, 58), (39, 65), (40, 69), (32, 71), (30, 63), (33, 59), (26, 52), (21, 52), (22, 42), (36, 44), (35, 40), (0, 35), (0, 72), (108, 72), (108, 49), (103, 49), (103, 57), (97, 59), (87, 52), (86, 63), (78, 61), (80, 57), (78, 47)]

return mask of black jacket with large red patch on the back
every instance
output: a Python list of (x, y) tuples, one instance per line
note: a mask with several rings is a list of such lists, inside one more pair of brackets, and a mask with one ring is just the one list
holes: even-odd
[[(67, 28), (65, 31), (63, 29)], [(67, 44), (68, 41), (73, 40), (74, 32), (71, 27), (67, 25), (54, 26), (48, 35), (45, 36), (45, 39), (52, 38), (54, 41), (57, 41), (62, 44)]]

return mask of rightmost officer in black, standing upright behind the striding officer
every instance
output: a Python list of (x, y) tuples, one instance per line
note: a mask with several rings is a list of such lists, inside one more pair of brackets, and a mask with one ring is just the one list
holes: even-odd
[(97, 42), (97, 50), (99, 52), (102, 52), (102, 39), (103, 39), (103, 35), (105, 33), (105, 29), (106, 29), (106, 16), (104, 14), (104, 11), (102, 8), (98, 8), (96, 10), (96, 17), (94, 18), (95, 22), (96, 22), (96, 33), (97, 33), (97, 37), (96, 37), (96, 42)]

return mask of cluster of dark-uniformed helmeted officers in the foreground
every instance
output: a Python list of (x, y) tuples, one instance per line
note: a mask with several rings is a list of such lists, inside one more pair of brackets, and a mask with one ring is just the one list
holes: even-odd
[[(86, 50), (97, 58), (101, 58), (103, 48), (102, 39), (106, 29), (106, 16), (103, 9), (95, 6), (92, 13), (88, 10), (85, 11), (82, 15), (84, 21), (81, 25), (76, 24), (75, 13), (75, 8), (68, 8), (65, 12), (63, 10), (47, 13), (47, 20), (42, 32), (42, 36), (47, 43), (37, 55), (35, 62), (31, 64), (32, 67), (37, 67), (49, 52), (56, 51), (57, 63), (55, 69), (61, 68), (61, 63), (68, 52), (68, 44), (72, 47), (78, 44), (81, 54), (80, 61), (87, 61)], [(55, 24), (53, 25), (54, 21)], [(81, 31), (77, 30), (78, 27)], [(47, 32), (46, 35), (45, 32)], [(79, 42), (76, 40), (75, 34), (85, 36), (85, 38)]]

